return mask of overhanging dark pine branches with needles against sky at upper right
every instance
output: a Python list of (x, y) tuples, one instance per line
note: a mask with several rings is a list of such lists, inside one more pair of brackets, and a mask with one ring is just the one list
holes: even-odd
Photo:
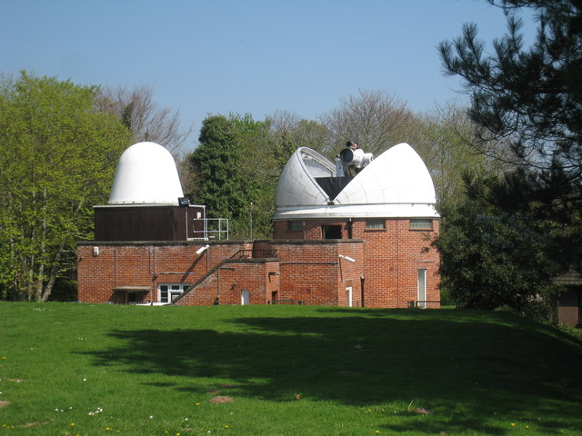
[[(495, 1), (490, 1), (496, 4)], [(471, 118), (484, 139), (507, 138), (512, 163), (532, 171), (558, 164), (580, 177), (582, 157), (582, 10), (576, 0), (504, 0), (508, 34), (486, 55), (477, 26), (439, 45), (448, 74), (460, 75), (471, 96)], [(536, 43), (523, 47), (519, 7), (537, 10)]]

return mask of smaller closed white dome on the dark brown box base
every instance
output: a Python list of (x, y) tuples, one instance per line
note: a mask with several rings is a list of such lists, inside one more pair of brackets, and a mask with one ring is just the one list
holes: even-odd
[(109, 204), (178, 204), (182, 185), (172, 154), (156, 143), (137, 143), (119, 158)]

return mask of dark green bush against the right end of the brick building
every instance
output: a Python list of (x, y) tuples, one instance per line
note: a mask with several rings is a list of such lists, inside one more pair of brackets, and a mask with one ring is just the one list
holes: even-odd
[(497, 183), (467, 181), (472, 191), (464, 202), (439, 203), (441, 280), (462, 307), (527, 313), (557, 291), (551, 279), (564, 265), (548, 256), (557, 248), (550, 235), (487, 202)]

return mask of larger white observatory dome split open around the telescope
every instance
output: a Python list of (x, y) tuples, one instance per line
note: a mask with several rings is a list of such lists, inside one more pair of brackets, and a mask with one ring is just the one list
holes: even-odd
[(306, 147), (297, 149), (277, 184), (274, 219), (438, 216), (430, 173), (408, 144), (380, 154), (329, 198), (316, 178), (334, 176), (336, 167), (324, 156)]

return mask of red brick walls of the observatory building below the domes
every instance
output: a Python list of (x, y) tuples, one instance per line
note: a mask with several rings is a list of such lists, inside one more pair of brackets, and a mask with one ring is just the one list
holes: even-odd
[[(274, 250), (278, 260), (229, 260), (179, 303), (240, 304), (247, 290), (252, 304), (293, 300), (348, 306), (346, 288), (351, 288), (353, 306), (408, 307), (418, 299), (418, 270), (426, 270), (428, 307), (437, 307), (439, 256), (430, 243), (438, 221), (430, 231), (411, 230), (408, 219), (384, 222), (384, 229), (370, 230), (364, 219), (305, 220), (298, 231), (276, 222), (274, 240), (209, 243), (200, 254), (196, 250), (206, 243), (79, 243), (78, 300), (125, 302), (126, 289), (134, 287), (144, 302), (158, 302), (161, 283), (191, 285), (240, 251), (250, 256)], [(323, 240), (323, 225), (338, 225), (342, 239)]]

